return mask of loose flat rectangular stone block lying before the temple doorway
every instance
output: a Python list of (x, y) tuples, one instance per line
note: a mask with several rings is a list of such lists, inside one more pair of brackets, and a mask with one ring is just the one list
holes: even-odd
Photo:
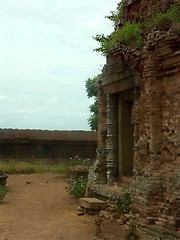
[(106, 209), (106, 202), (97, 198), (80, 198), (79, 205), (89, 210), (104, 210)]

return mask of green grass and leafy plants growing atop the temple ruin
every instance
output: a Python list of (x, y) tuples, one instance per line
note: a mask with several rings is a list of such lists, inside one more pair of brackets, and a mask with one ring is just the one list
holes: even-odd
[[(111, 11), (110, 16), (106, 16), (113, 21), (113, 25), (116, 26), (118, 20), (123, 16), (123, 2), (118, 4), (117, 11)], [(133, 13), (133, 15), (137, 15)], [(108, 52), (117, 47), (117, 45), (124, 44), (133, 46), (135, 48), (141, 48), (143, 45), (143, 33), (149, 31), (153, 27), (167, 27), (176, 23), (180, 23), (180, 7), (172, 6), (166, 12), (162, 13), (158, 8), (152, 9), (152, 17), (149, 18), (143, 24), (138, 22), (137, 19), (134, 22), (126, 22), (124, 26), (118, 30), (112, 32), (110, 35), (97, 34), (93, 37), (94, 40), (100, 43), (100, 46), (94, 51), (100, 52), (102, 55), (107, 55)]]

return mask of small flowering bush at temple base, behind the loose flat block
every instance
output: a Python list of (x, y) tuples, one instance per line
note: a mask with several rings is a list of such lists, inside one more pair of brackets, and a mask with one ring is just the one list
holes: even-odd
[(78, 179), (68, 179), (68, 185), (65, 187), (69, 194), (76, 198), (84, 197), (86, 192), (87, 179), (80, 177)]

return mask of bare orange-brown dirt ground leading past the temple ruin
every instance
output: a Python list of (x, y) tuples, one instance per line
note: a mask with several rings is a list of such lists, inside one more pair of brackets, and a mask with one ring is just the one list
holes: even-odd
[[(0, 203), (0, 240), (92, 240), (94, 217), (77, 216), (78, 201), (55, 174), (10, 175)], [(105, 223), (103, 236), (124, 239), (121, 227)]]

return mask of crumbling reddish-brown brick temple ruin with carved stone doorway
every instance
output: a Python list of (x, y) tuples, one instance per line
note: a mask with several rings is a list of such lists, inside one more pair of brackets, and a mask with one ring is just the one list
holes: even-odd
[[(121, 23), (148, 21), (154, 6), (166, 12), (179, 1), (124, 1)], [(180, 27), (156, 25), (141, 48), (119, 43), (106, 59), (89, 186), (131, 179), (136, 221), (180, 239)]]

